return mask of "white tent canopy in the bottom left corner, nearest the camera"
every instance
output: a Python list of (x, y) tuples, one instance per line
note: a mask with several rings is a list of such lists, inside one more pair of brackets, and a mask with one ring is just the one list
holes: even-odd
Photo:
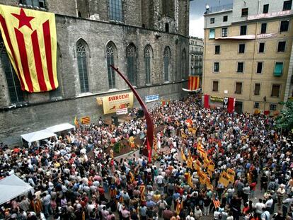
[(16, 175), (10, 175), (0, 180), (0, 204), (4, 204), (28, 191), (33, 191), (33, 187)]

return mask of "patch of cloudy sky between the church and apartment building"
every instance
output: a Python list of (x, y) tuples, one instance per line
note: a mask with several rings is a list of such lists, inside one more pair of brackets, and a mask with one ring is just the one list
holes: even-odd
[(204, 36), (204, 23), (205, 19), (203, 14), (205, 13), (206, 4), (209, 7), (222, 6), (225, 4), (231, 4), (233, 0), (193, 0), (190, 1), (190, 19), (189, 19), (189, 35), (193, 37)]

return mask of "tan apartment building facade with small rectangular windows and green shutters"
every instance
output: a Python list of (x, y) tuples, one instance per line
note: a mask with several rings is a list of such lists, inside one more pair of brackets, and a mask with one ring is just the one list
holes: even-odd
[(292, 16), (292, 0), (234, 0), (207, 9), (203, 91), (216, 100), (212, 107), (232, 97), (236, 112), (282, 109), (292, 97)]

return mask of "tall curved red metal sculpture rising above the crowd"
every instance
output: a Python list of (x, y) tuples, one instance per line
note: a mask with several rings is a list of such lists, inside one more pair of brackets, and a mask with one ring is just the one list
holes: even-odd
[(144, 104), (144, 101), (142, 100), (142, 98), (140, 98), (139, 94), (137, 93), (135, 88), (133, 88), (130, 81), (128, 81), (125, 78), (125, 76), (118, 70), (118, 68), (116, 68), (113, 65), (110, 65), (110, 66), (117, 72), (117, 74), (119, 74), (122, 77), (122, 79), (127, 83), (127, 85), (130, 86), (130, 89), (132, 90), (135, 97), (139, 101), (140, 106), (142, 106), (142, 110), (144, 111), (144, 117), (146, 118), (146, 126), (147, 126), (146, 127), (146, 147), (147, 147), (148, 156), (149, 156), (149, 163), (151, 163), (151, 148), (153, 146), (153, 141), (154, 141), (154, 125), (153, 125), (153, 120), (151, 119), (151, 115), (149, 115), (149, 112), (146, 108), (146, 105)]

